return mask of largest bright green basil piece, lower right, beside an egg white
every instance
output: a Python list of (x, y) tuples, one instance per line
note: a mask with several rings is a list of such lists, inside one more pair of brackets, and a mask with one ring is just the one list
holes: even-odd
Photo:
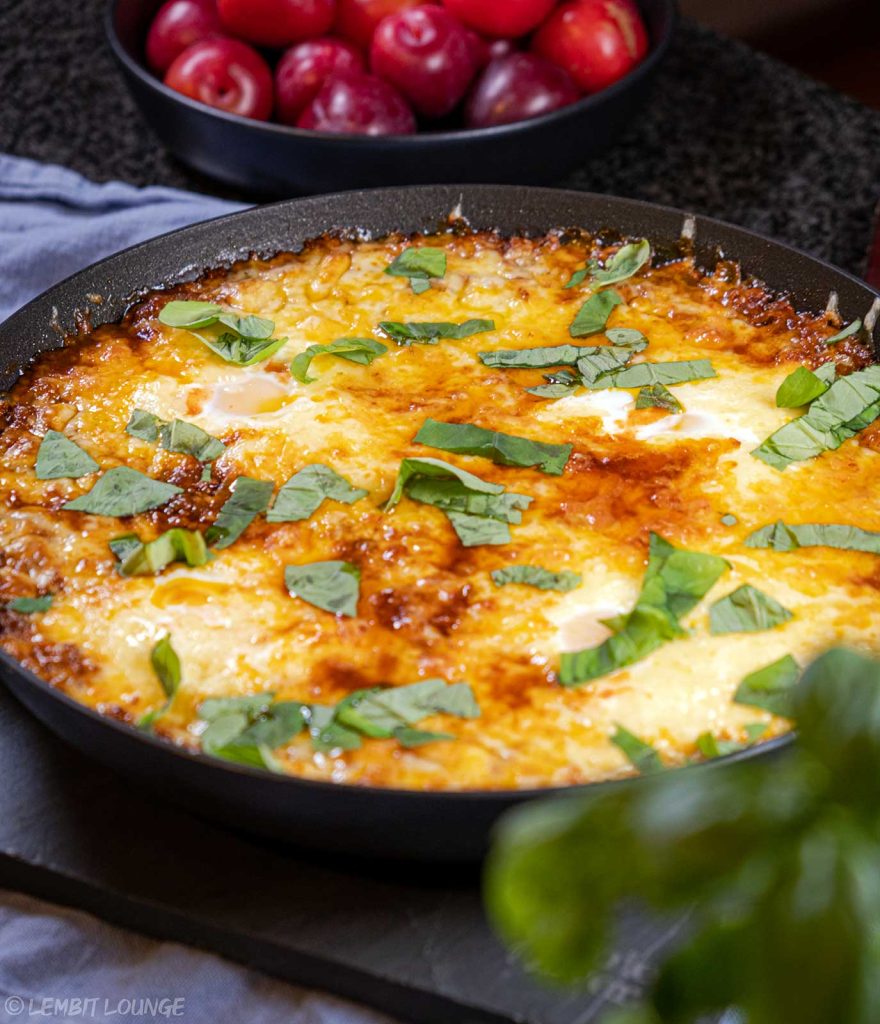
[(647, 569), (635, 607), (605, 623), (614, 635), (597, 647), (563, 652), (559, 681), (577, 686), (646, 657), (684, 635), (679, 618), (694, 608), (728, 568), (717, 555), (674, 548), (651, 535)]

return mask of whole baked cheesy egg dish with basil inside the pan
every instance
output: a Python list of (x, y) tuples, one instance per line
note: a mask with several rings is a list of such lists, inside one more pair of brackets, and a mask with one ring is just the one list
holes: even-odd
[(565, 785), (762, 742), (880, 653), (870, 331), (580, 232), (318, 239), (2, 403), (0, 643), (227, 762)]

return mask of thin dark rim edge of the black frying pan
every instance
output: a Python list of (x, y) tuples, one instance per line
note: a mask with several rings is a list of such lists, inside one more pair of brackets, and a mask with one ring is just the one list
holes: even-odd
[[(632, 211), (635, 208), (636, 212), (643, 210), (645, 212), (651, 212), (657, 214), (658, 212), (675, 216), (681, 219), (683, 222), (687, 217), (694, 216), (698, 226), (706, 225), (708, 227), (721, 228), (724, 231), (731, 231), (736, 236), (740, 236), (746, 239), (750, 239), (753, 242), (760, 242), (764, 245), (769, 246), (772, 250), (782, 251), (788, 254), (794, 254), (801, 259), (808, 261), (815, 265), (816, 269), (821, 269), (832, 276), (838, 279), (844, 279), (850, 284), (856, 286), (860, 290), (864, 291), (870, 296), (873, 296), (875, 300), (880, 299), (880, 292), (869, 286), (866, 282), (860, 280), (855, 274), (850, 273), (847, 270), (843, 270), (840, 267), (834, 266), (826, 260), (823, 260), (804, 250), (790, 246), (781, 242), (777, 242), (765, 234), (758, 231), (753, 231), (749, 228), (744, 228), (736, 224), (731, 224), (727, 221), (706, 217), (700, 214), (692, 215), (683, 210), (676, 207), (671, 207), (662, 204), (649, 203), (644, 200), (627, 199), (624, 197), (617, 196), (605, 196), (600, 193), (590, 193), (582, 191), (578, 189), (562, 189), (562, 188), (551, 188), (551, 187), (535, 187), (529, 185), (492, 185), (492, 184), (450, 184), (450, 185), (409, 185), (404, 188), (366, 188), (357, 189), (351, 191), (338, 191), (327, 194), (323, 196), (305, 197), (300, 199), (288, 199), (282, 200), (277, 203), (268, 204), (265, 206), (253, 206), (248, 207), (244, 210), (235, 211), (233, 213), (222, 214), (218, 217), (213, 217), (208, 220), (199, 221), (195, 224), (187, 225), (185, 227), (176, 228), (171, 231), (164, 232), (163, 234), (156, 236), (145, 242), (137, 243), (133, 246), (129, 246), (120, 252), (114, 253), (113, 255), (103, 257), (96, 262), (89, 264), (88, 266), (78, 270), (77, 272), (68, 275), (61, 281), (55, 283), (50, 288), (43, 291), (41, 294), (37, 295), (31, 299), (28, 303), (22, 306), (18, 310), (12, 313), (6, 321), (0, 324), (0, 342), (3, 340), (4, 335), (14, 334), (15, 326), (20, 321), (24, 322), (29, 315), (32, 315), (36, 309), (41, 306), (48, 304), (49, 309), (53, 308), (52, 297), (55, 293), (64, 290), (69, 290), (71, 286), (74, 286), (78, 279), (84, 279), (87, 275), (93, 274), (95, 271), (118, 261), (121, 261), (123, 257), (129, 259), (130, 257), (137, 255), (145, 250), (151, 250), (154, 248), (161, 248), (167, 240), (180, 237), (185, 233), (196, 234), (203, 231), (217, 232), (222, 225), (233, 219), (247, 218), (248, 216), (259, 216), (271, 218), (275, 213), (281, 209), (288, 208), (302, 208), (309, 205), (325, 205), (333, 204), (337, 201), (352, 201), (357, 198), (372, 198), (379, 200), (383, 195), (389, 196), (393, 195), (395, 198), (400, 198), (402, 193), (421, 193), (421, 194), (460, 194), (462, 199), (464, 199), (468, 194), (471, 197), (477, 198), (478, 196), (489, 196), (494, 195), (496, 199), (501, 198), (503, 200), (503, 194), (507, 194), (512, 197), (513, 194), (529, 193), (536, 197), (544, 197), (548, 200), (557, 200), (561, 206), (567, 200), (574, 201), (577, 203), (593, 203), (596, 205), (604, 205), (605, 207), (618, 207), (621, 211), (629, 210)], [(432, 197), (433, 198), (433, 197)], [(441, 201), (443, 204), (445, 201)], [(439, 213), (438, 217), (444, 216), (443, 212)], [(549, 227), (547, 230), (553, 229), (564, 229), (564, 227), (571, 227), (572, 225), (555, 225), (554, 227)], [(429, 229), (425, 228), (425, 229)], [(378, 236), (376, 236), (378, 237)], [(217, 247), (218, 251), (220, 247)], [(239, 259), (244, 257), (238, 257)], [(736, 257), (734, 257), (736, 258)], [(220, 262), (215, 262), (207, 266), (183, 266), (177, 268), (175, 274), (170, 275), (168, 279), (164, 280), (161, 284), (143, 285), (141, 288), (142, 292), (151, 290), (160, 290), (162, 288), (167, 288), (171, 284), (177, 281), (183, 280), (185, 275), (195, 271), (197, 273), (205, 273), (212, 269), (222, 265)], [(768, 288), (772, 290), (772, 284), (767, 285)], [(829, 289), (831, 290), (834, 286), (829, 284)], [(85, 294), (83, 294), (83, 299), (85, 300)], [(136, 297), (134, 295), (126, 297), (125, 302), (130, 304), (135, 301)], [(77, 307), (79, 308), (79, 307)], [(46, 351), (46, 348), (41, 348), (37, 352), (33, 353), (29, 359), (36, 358), (42, 352)], [(26, 364), (27, 365), (27, 364)], [(80, 703), (75, 698), (71, 697), (69, 694), (59, 690), (49, 682), (41, 679), (36, 673), (32, 672), (26, 666), (18, 663), (5, 650), (0, 649), (0, 666), (3, 668), (3, 682), (6, 684), (7, 689), (14, 694), (14, 687), (8, 682), (6, 676), (7, 673), (12, 677), (17, 677), (17, 679), (23, 680), (29, 686), (40, 691), (43, 696), (50, 697), (53, 700), (58, 701), (65, 706), (69, 711), (79, 714), (88, 719), (92, 724), (98, 725), (102, 728), (110, 728), (116, 731), (120, 737), (128, 738), (132, 741), (139, 741), (142, 748), (149, 748), (158, 756), (165, 757), (166, 759), (179, 759), (182, 764), (194, 764), (197, 766), (202, 766), (209, 771), (219, 771), (221, 773), (232, 773), (233, 775), (244, 776), (254, 782), (261, 782), (264, 785), (277, 785), (277, 786), (295, 786), (298, 788), (306, 788), (313, 792), (322, 793), (344, 793), (349, 797), (358, 795), (363, 800), (376, 800), (376, 799), (394, 799), (394, 800), (430, 800), (434, 803), (446, 802), (446, 801), (456, 801), (457, 803), (491, 803), (491, 802), (520, 802), (527, 800), (534, 800), (540, 798), (552, 798), (552, 797), (562, 797), (562, 796), (575, 796), (575, 795), (585, 795), (591, 792), (597, 792), (597, 787), (606, 787), (611, 785), (622, 785), (622, 784), (633, 784), (639, 780), (639, 776), (624, 776), (621, 778), (610, 778), (610, 779), (598, 779), (592, 782), (578, 782), (571, 785), (548, 785), (541, 787), (530, 787), (530, 788), (498, 788), (498, 790), (487, 790), (487, 788), (468, 788), (468, 790), (413, 790), (413, 788), (403, 788), (395, 786), (376, 786), (376, 785), (359, 785), (350, 782), (332, 782), (323, 779), (309, 779), (303, 778), (297, 775), (288, 774), (278, 774), (258, 768), (253, 768), (247, 765), (238, 765), (233, 762), (225, 762), (218, 758), (212, 758), (207, 754), (199, 752), (190, 751), (184, 746), (177, 743), (171, 742), (167, 739), (162, 739), (158, 736), (152, 735), (150, 733), (138, 730), (135, 726), (129, 725), (127, 723), (122, 723), (113, 719), (107, 715), (100, 714), (98, 711)], [(29, 709), (30, 712), (30, 709)], [(31, 712), (31, 714), (34, 714)], [(40, 718), (39, 715), (35, 717)], [(61, 738), (66, 739), (61, 733)], [(695, 770), (703, 770), (710, 767), (722, 766), (725, 764), (732, 764), (737, 762), (742, 762), (746, 760), (751, 760), (756, 757), (766, 757), (770, 756), (774, 752), (784, 750), (790, 746), (795, 740), (795, 733), (789, 732), (784, 735), (774, 737), (773, 739), (767, 740), (763, 743), (758, 743), (754, 746), (746, 748), (743, 751), (737, 751), (732, 754), (728, 754), (721, 758), (715, 758), (711, 761), (701, 763), (699, 765), (689, 766)], [(688, 766), (682, 766), (688, 767)], [(680, 769), (678, 769), (680, 770)]]

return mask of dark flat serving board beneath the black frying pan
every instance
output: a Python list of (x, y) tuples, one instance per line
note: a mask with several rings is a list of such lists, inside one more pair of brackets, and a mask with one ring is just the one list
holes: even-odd
[(638, 995), (682, 927), (629, 919), (585, 989), (552, 991), (493, 936), (476, 870), (328, 861), (224, 830), (76, 754), (2, 688), (0, 778), (0, 886), (413, 1024), (591, 1024)]

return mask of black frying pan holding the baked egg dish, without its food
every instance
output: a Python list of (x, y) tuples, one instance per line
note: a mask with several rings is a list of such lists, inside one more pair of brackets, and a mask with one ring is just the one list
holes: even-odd
[[(174, 231), (61, 282), (0, 325), (0, 365), (5, 368), (0, 372), (0, 390), (8, 389), (35, 355), (57, 347), (58, 326), (73, 330), (78, 315), (87, 313), (95, 326), (118, 319), (132, 298), (144, 291), (192, 280), (252, 253), (268, 256), (295, 250), (328, 230), (381, 236), (432, 229), (457, 204), (475, 228), (506, 233), (613, 228), (664, 246), (676, 244), (684, 232), (694, 239), (701, 262), (712, 265), (720, 251), (771, 288), (790, 292), (798, 307), (823, 309), (836, 293), (844, 321), (867, 317), (871, 328), (880, 309), (878, 293), (842, 270), (741, 228), (666, 207), (512, 185), (345, 193), (247, 210)], [(95, 296), (102, 301), (95, 304)], [(188, 754), (103, 718), (3, 653), (0, 677), (50, 729), (110, 770), (229, 825), (319, 850), (420, 860), (474, 859), (504, 810), (548, 792), (414, 793), (278, 776)], [(774, 740), (756, 751), (766, 753), (787, 741)], [(722, 762), (754, 753), (732, 755)]]

